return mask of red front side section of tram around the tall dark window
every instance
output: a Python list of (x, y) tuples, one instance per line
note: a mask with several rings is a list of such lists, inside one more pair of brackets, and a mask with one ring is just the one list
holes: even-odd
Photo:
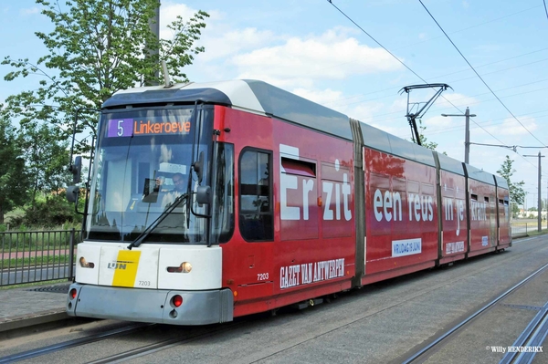
[(247, 314), (268, 309), (262, 306), (268, 298), (261, 297), (271, 297), (273, 292), (272, 120), (237, 109), (221, 111), (222, 129), (230, 130), (223, 135), (224, 141), (234, 144), (236, 172), (236, 229), (224, 246), (223, 272), (237, 292), (235, 305), (246, 304), (246, 311), (238, 314)]

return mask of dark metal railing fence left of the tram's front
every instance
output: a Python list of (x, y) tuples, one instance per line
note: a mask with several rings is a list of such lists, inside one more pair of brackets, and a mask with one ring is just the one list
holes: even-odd
[(72, 279), (79, 237), (75, 229), (0, 233), (0, 286)]

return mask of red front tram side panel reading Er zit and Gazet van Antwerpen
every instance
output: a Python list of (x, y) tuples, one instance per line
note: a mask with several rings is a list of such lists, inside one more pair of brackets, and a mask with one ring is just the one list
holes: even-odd
[(222, 141), (235, 145), (238, 168), (241, 153), (271, 155), (261, 176), (272, 178), (274, 238), (245, 239), (237, 223), (233, 239), (223, 245), (223, 276), (237, 291), (235, 315), (267, 309), (261, 299), (267, 296), (277, 296), (279, 307), (350, 287), (356, 241), (352, 142), (282, 120), (217, 109), (223, 109), (219, 126), (230, 129)]

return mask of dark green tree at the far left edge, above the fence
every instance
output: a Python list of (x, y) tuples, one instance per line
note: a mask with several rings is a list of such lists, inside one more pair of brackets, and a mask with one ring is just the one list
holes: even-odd
[(0, 118), (0, 224), (5, 213), (26, 203), (28, 176), (20, 142), (11, 122)]

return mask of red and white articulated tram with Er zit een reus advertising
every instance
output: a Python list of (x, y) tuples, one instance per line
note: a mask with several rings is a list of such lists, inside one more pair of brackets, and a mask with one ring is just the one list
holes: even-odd
[(257, 80), (102, 106), (70, 316), (204, 325), (511, 246), (501, 177)]

